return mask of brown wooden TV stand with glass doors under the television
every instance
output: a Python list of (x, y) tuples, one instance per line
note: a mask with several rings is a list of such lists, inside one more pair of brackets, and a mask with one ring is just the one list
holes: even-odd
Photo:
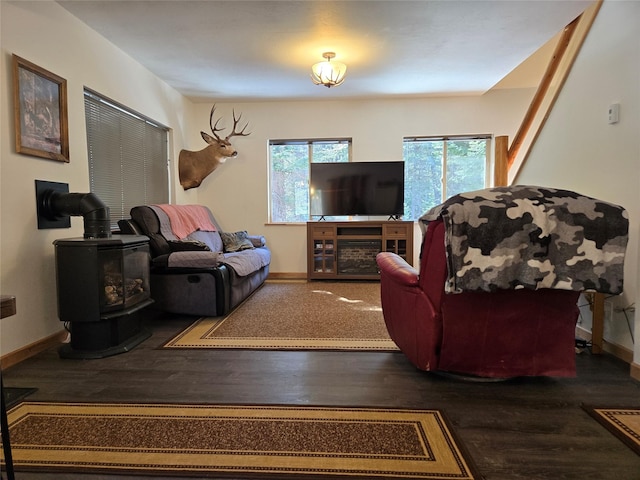
[(307, 279), (376, 280), (376, 255), (394, 252), (413, 264), (413, 223), (308, 222)]

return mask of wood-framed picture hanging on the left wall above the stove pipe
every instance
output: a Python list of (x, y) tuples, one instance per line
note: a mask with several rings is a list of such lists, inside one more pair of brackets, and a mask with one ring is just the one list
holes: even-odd
[(67, 81), (13, 55), (16, 152), (69, 162)]

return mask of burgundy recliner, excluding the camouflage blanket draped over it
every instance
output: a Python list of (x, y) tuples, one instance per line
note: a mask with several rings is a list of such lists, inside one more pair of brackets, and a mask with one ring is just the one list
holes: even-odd
[[(394, 253), (376, 257), (384, 319), (400, 350), (427, 371), (492, 378), (575, 376), (581, 287), (445, 293), (451, 268), (445, 231), (451, 224), (436, 216), (424, 231), (419, 270)], [(624, 229), (610, 236), (618, 238)], [(464, 242), (472, 242), (468, 238)], [(624, 238), (618, 243), (626, 245)]]

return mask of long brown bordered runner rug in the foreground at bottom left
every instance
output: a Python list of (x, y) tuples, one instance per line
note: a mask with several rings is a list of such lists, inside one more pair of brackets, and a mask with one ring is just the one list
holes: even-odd
[(233, 478), (480, 478), (438, 410), (25, 402), (17, 471)]

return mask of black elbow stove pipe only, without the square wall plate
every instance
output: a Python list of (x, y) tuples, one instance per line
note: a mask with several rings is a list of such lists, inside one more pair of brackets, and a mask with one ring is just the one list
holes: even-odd
[(84, 238), (110, 238), (109, 207), (94, 193), (60, 193), (46, 190), (40, 198), (42, 213), (50, 220), (64, 216), (82, 216)]

